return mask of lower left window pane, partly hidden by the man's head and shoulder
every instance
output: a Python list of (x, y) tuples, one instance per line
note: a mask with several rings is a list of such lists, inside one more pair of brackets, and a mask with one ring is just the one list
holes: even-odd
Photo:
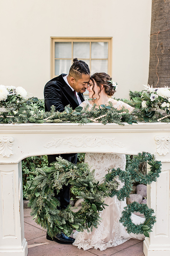
[(71, 60), (55, 60), (55, 76), (61, 75), (62, 73), (68, 74), (71, 65)]

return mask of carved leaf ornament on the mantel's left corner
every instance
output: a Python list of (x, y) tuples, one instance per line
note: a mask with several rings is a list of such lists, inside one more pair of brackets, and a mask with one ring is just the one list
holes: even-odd
[(14, 142), (14, 138), (11, 136), (0, 137), (0, 155), (7, 158), (9, 158), (10, 155), (13, 155), (12, 153), (13, 142)]

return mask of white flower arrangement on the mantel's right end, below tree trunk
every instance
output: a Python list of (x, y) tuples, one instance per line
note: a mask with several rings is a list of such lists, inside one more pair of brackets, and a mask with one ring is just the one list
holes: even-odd
[(142, 108), (159, 111), (164, 110), (170, 113), (170, 88), (168, 86), (153, 88), (153, 86), (145, 85), (145, 90), (141, 96)]

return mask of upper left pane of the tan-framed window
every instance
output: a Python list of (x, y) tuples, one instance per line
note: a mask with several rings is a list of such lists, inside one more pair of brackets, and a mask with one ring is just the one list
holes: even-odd
[(55, 42), (55, 58), (72, 58), (72, 43)]

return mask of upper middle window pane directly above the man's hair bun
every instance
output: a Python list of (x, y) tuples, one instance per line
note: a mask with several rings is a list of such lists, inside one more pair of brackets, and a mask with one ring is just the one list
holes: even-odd
[(90, 58), (90, 42), (73, 42), (73, 58)]

